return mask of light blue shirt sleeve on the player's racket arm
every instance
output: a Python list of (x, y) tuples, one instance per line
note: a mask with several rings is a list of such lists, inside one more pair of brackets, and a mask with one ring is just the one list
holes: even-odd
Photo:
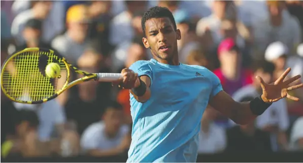
[(152, 80), (152, 69), (150, 67), (149, 61), (146, 60), (139, 60), (131, 64), (129, 67), (130, 70), (138, 73), (138, 76), (146, 75), (150, 78), (151, 84), (153, 83)]

